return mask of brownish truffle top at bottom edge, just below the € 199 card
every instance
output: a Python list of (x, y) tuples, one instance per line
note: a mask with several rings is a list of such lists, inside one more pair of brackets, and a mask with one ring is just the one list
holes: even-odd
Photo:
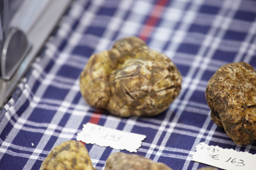
[(153, 162), (143, 156), (126, 153), (113, 153), (107, 161), (105, 170), (172, 170), (163, 163)]

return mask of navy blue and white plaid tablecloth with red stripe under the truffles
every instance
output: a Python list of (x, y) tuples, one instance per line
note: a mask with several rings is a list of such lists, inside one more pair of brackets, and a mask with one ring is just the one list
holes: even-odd
[[(180, 95), (158, 116), (111, 116), (80, 94), (88, 58), (130, 35), (170, 57), (183, 76)], [(146, 135), (137, 154), (174, 170), (206, 166), (191, 160), (199, 142), (255, 154), (256, 142), (237, 145), (212, 122), (204, 96), (215, 71), (238, 61), (256, 68), (255, 0), (75, 0), (1, 110), (0, 170), (38, 170), (87, 122)], [(127, 153), (85, 146), (98, 170), (111, 153)]]

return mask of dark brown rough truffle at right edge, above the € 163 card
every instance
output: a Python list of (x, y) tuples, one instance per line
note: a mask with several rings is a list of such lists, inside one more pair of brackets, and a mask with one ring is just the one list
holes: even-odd
[(245, 62), (223, 65), (205, 93), (211, 118), (236, 144), (256, 139), (256, 72)]

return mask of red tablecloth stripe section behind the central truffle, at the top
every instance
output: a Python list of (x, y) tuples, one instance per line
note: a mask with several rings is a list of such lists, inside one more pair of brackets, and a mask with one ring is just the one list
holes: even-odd
[(146, 20), (143, 28), (140, 31), (139, 37), (146, 41), (148, 40), (148, 37), (151, 35), (154, 26), (157, 25), (157, 22), (159, 21), (159, 18), (163, 14), (164, 6), (169, 2), (169, 0), (158, 0), (155, 4), (150, 17)]

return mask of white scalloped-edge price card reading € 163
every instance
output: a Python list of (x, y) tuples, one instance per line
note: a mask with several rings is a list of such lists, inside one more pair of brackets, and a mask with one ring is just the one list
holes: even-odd
[(209, 146), (204, 142), (196, 146), (192, 160), (224, 170), (256, 169), (256, 155), (248, 152), (238, 152), (233, 149), (223, 149), (218, 146)]

